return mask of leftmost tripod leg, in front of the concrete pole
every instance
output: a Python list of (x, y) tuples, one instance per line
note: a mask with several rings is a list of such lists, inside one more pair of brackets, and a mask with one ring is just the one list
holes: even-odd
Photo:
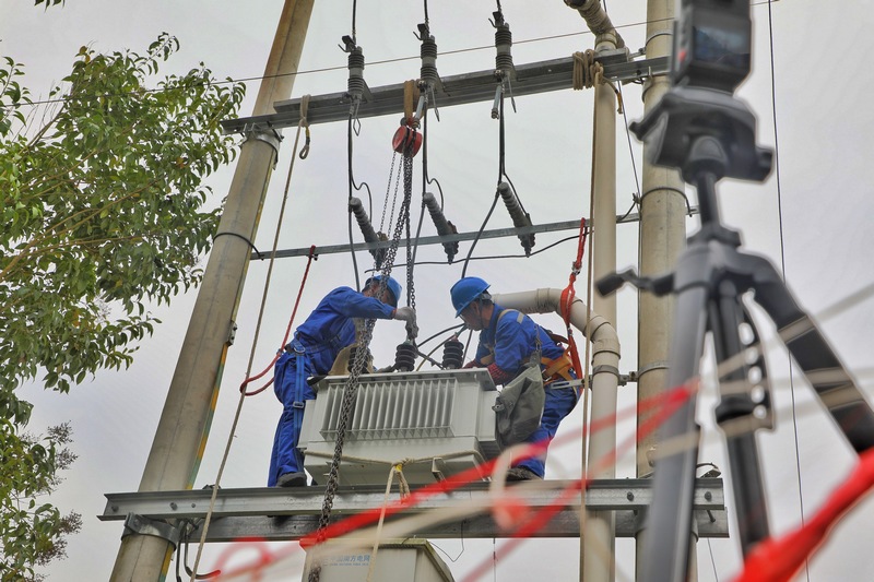
[[(689, 287), (676, 298), (674, 335), (668, 389), (681, 387), (698, 376), (704, 335), (707, 331), (707, 288)], [(686, 400), (659, 432), (661, 452), (656, 461), (652, 503), (647, 519), (642, 563), (647, 582), (684, 582), (689, 544), (698, 461), (696, 396)]]

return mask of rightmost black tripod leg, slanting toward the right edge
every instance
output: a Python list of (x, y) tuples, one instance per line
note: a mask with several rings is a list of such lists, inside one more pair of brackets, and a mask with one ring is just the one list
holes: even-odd
[(759, 261), (753, 282), (756, 302), (773, 320), (792, 357), (855, 452), (867, 450), (874, 446), (874, 411), (773, 265), (763, 258), (754, 259)]

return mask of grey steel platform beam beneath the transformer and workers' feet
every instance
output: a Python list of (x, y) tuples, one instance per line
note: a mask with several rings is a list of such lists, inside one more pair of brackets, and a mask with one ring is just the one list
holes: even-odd
[[(649, 479), (603, 479), (593, 482), (586, 492), (586, 507), (616, 512), (616, 535), (631, 537), (639, 528), (637, 514), (651, 500)], [(533, 511), (554, 503), (556, 495), (571, 482), (548, 480), (535, 487), (515, 486), (513, 495), (522, 498)], [(380, 508), (385, 487), (341, 487), (334, 497), (334, 521)], [(102, 521), (123, 520), (128, 514), (151, 519), (202, 520), (210, 506), (210, 489), (107, 494)], [(221, 489), (215, 500), (208, 542), (233, 542), (244, 537), (298, 539), (318, 528), (324, 492), (321, 487)], [(580, 495), (575, 495), (548, 524), (533, 537), (579, 536)], [(440, 512), (465, 504), (471, 513), (461, 520), (448, 520), (416, 532), (423, 537), (504, 537), (492, 520), (492, 500), (487, 483), (473, 483), (453, 491), (440, 492), (405, 508), (389, 521), (425, 512)], [(694, 498), (695, 515), (701, 537), (728, 537), (722, 479), (697, 479)], [(268, 516), (270, 515), (270, 516)], [(200, 537), (196, 533), (193, 537)]]

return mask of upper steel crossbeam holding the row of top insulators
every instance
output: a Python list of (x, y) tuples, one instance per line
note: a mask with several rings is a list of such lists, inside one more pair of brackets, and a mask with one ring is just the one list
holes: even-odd
[[(665, 74), (670, 62), (668, 57), (656, 59), (628, 60), (624, 50), (610, 51), (595, 58), (604, 67), (604, 76), (611, 81), (627, 82)], [(512, 81), (512, 96), (521, 97), (551, 91), (572, 87), (574, 57), (539, 61), (516, 67)], [(495, 98), (497, 80), (495, 70), (445, 76), (442, 86), (435, 87), (438, 108), (469, 103), (487, 102)], [(275, 114), (228, 119), (222, 121), (225, 133), (239, 133), (257, 129), (282, 129), (295, 127), (300, 121), (300, 100), (276, 102)], [(329, 123), (345, 121), (350, 116), (351, 99), (346, 92), (315, 95), (309, 99), (307, 122)], [(434, 104), (432, 104), (434, 106)], [(403, 110), (403, 83), (371, 88), (370, 97), (362, 100), (357, 118), (379, 117), (401, 114)]]

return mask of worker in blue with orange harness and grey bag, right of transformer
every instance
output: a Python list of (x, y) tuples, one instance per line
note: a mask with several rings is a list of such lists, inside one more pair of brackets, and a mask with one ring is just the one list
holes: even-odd
[[(503, 385), (519, 375), (540, 348), (545, 403), (540, 426), (525, 442), (548, 443), (559, 423), (570, 414), (578, 395), (570, 380), (576, 378), (569, 355), (552, 334), (527, 314), (504, 309), (492, 301), (489, 285), (480, 277), (463, 277), (450, 289), (456, 317), (480, 332), (476, 357), (465, 368), (485, 367), (495, 384)], [(542, 479), (546, 453), (520, 460), (507, 472), (508, 482)]]

